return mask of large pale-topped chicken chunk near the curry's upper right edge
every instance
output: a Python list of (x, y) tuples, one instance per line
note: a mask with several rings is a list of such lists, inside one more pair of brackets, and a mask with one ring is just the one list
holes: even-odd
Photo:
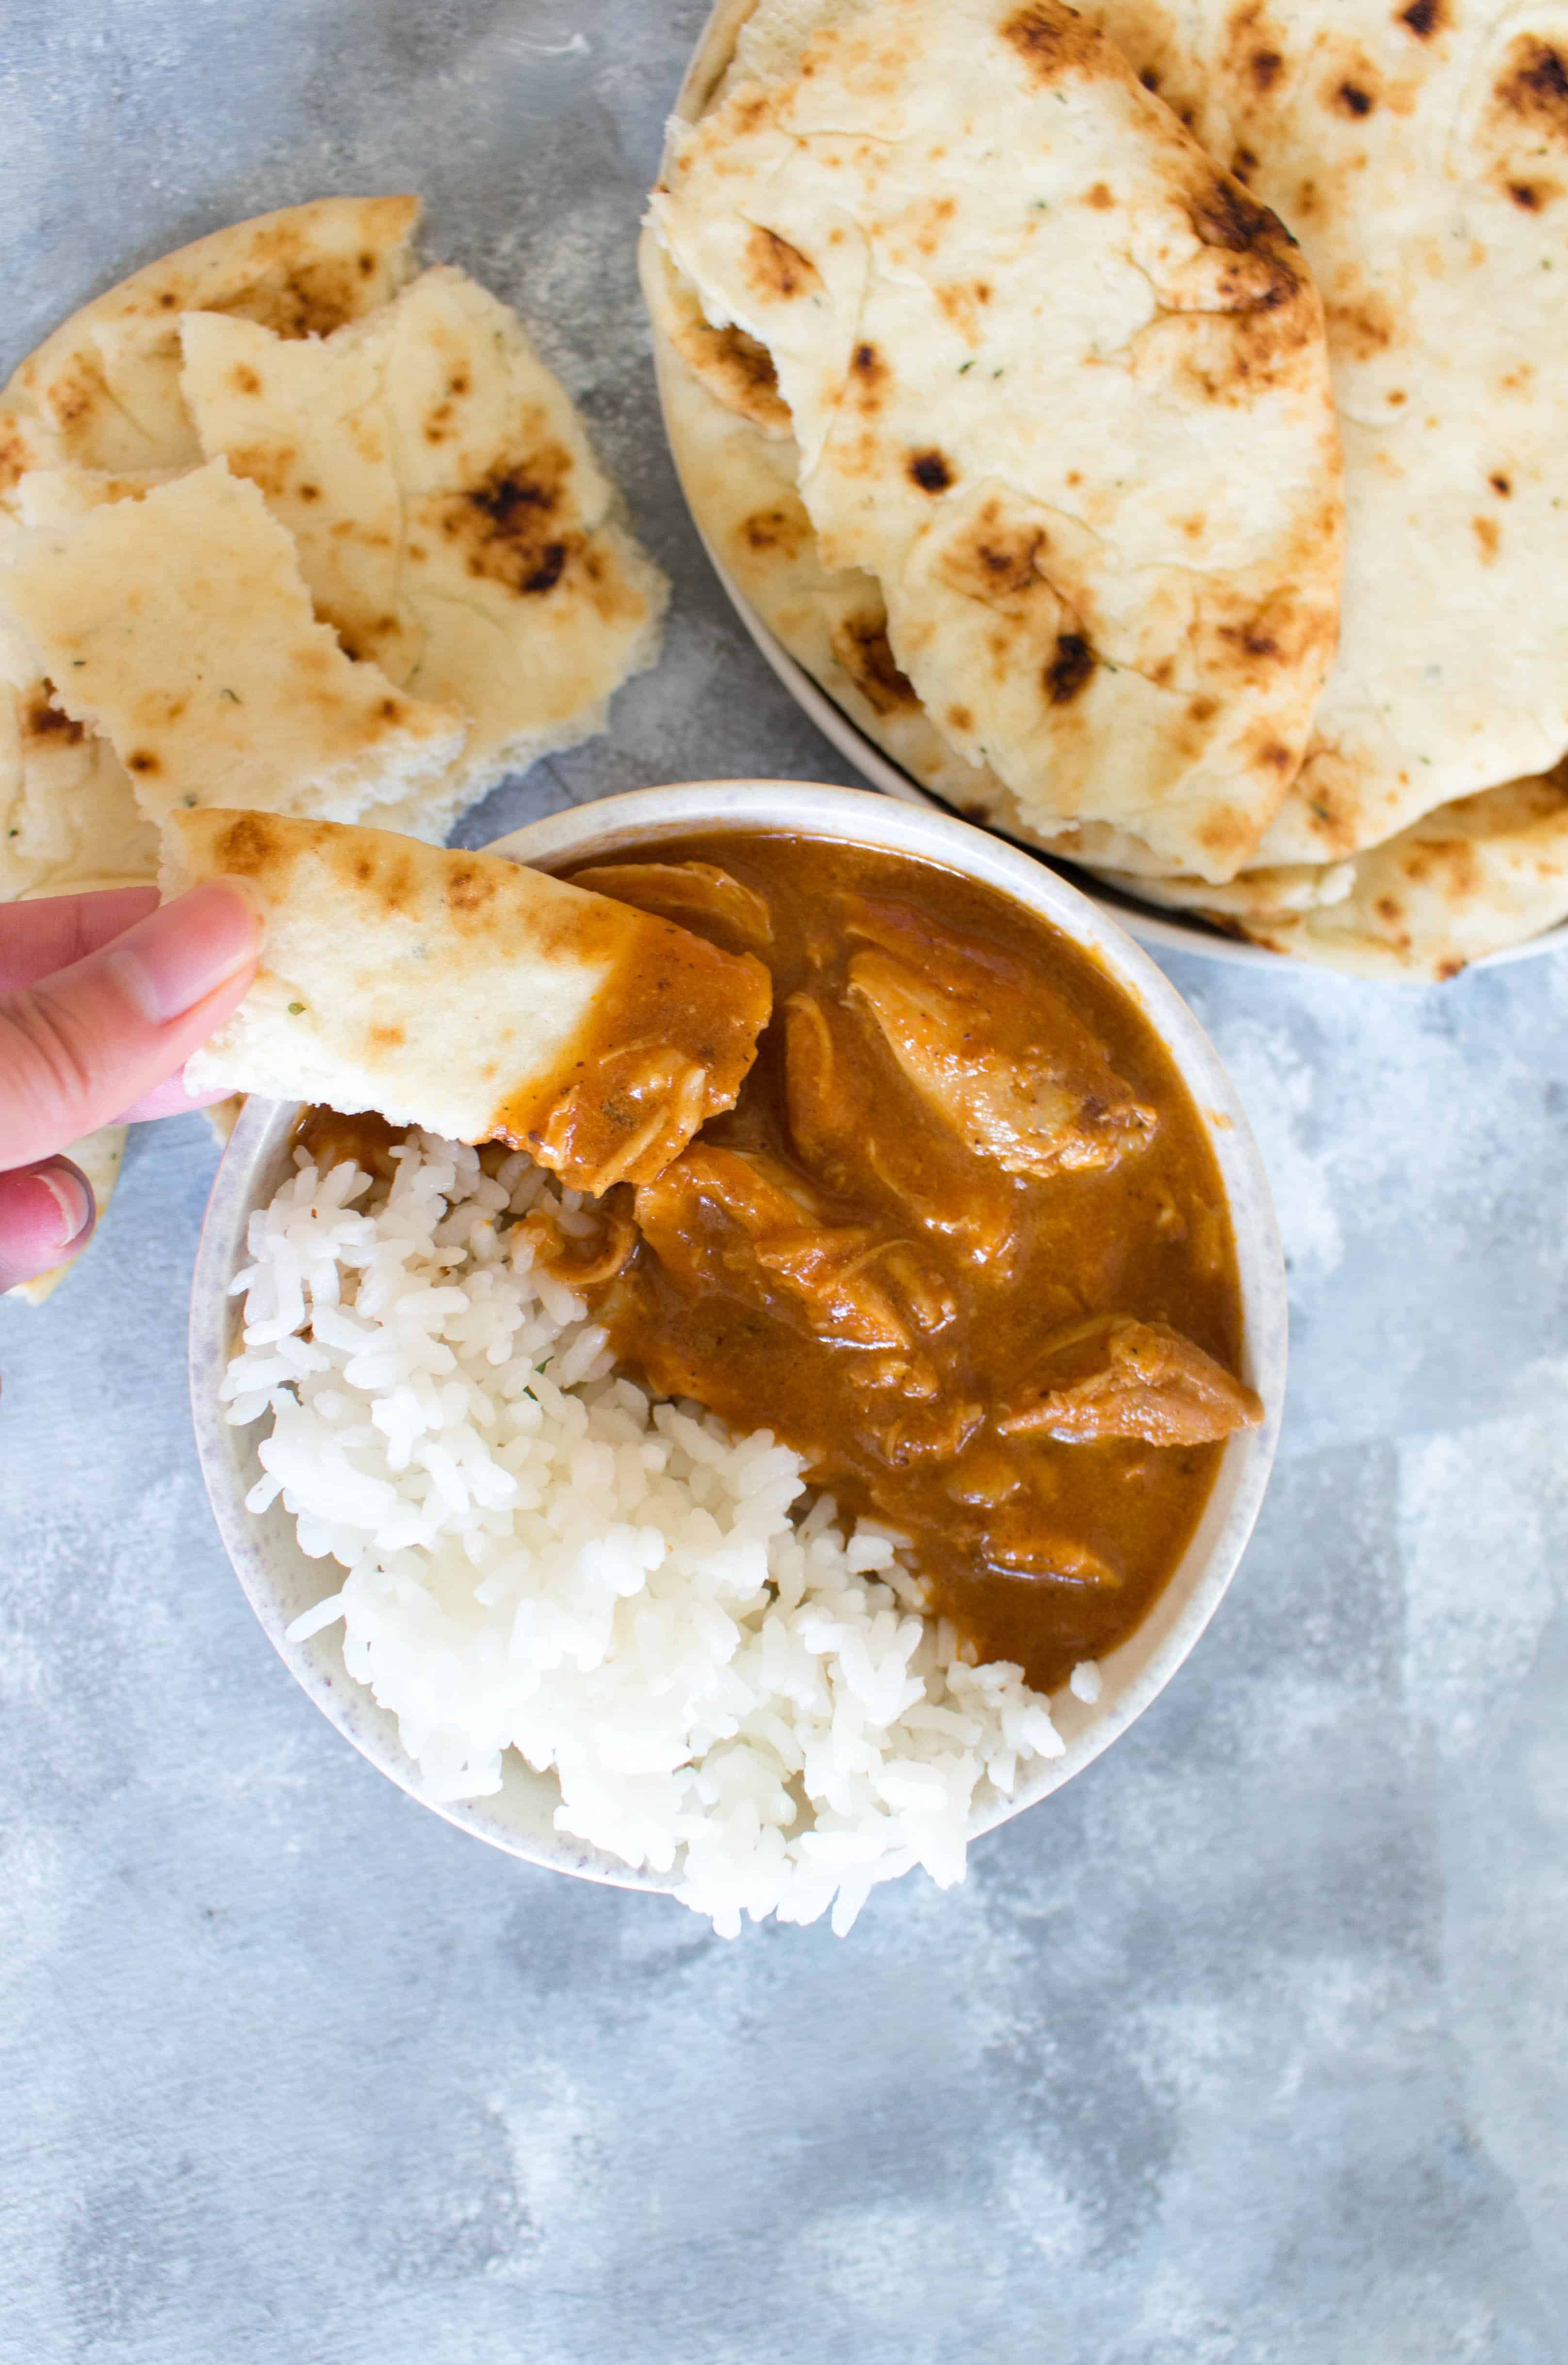
[(1067, 1003), (1036, 981), (1034, 1007), (1050, 1012), (1019, 1045), (981, 979), (939, 967), (941, 946), (922, 965), (866, 951), (849, 963), (849, 993), (882, 1031), (889, 1052), (920, 1097), (981, 1159), (1005, 1173), (1050, 1180), (1116, 1166), (1154, 1135), (1154, 1112), (1133, 1100)]

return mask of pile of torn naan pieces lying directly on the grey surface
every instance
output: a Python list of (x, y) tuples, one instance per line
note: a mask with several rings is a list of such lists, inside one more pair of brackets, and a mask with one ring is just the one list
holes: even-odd
[(0, 899), (154, 880), (196, 806), (440, 842), (653, 662), (667, 584), (565, 390), (416, 222), (220, 229), (0, 393)]

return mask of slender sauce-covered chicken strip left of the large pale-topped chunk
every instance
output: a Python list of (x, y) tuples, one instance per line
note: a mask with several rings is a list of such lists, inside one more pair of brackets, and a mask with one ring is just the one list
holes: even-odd
[(1005, 1272), (1019, 1218), (1017, 1185), (963, 1156), (932, 1159), (929, 1138), (889, 1114), (875, 1093), (863, 1052), (856, 1060), (840, 1041), (840, 1029), (858, 1031), (856, 1019), (816, 993), (792, 993), (783, 1024), (790, 1138), (811, 1171), (847, 1192), (863, 1192), (870, 1175), (906, 1220)]

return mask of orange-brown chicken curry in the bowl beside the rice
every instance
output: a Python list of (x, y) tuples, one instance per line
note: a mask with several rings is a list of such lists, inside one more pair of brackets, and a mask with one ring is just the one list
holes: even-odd
[[(979, 1658), (1142, 1620), (1263, 1417), (1220, 1175), (1119, 986), (927, 863), (724, 832), (572, 873), (773, 977), (736, 1107), (539, 1246), (660, 1395), (771, 1428)], [(539, 1225), (542, 1218), (530, 1218)]]

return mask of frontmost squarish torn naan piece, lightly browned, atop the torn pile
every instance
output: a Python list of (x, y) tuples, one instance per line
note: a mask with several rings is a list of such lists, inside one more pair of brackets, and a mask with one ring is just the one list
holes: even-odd
[(464, 745), (454, 707), (343, 655), (289, 534), (222, 461), (9, 534), (0, 627), (57, 707), (102, 731), (154, 821), (225, 802), (352, 818)]

